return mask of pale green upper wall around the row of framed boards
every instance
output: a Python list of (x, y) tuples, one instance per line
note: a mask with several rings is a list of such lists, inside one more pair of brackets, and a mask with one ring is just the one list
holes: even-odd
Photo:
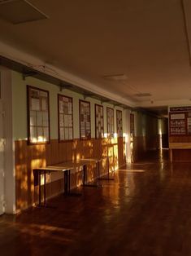
[[(73, 127), (74, 138), (80, 137), (79, 131), (79, 99), (84, 99), (83, 95), (77, 94), (71, 90), (59, 91), (59, 86), (54, 86), (48, 82), (43, 82), (34, 77), (26, 77), (23, 80), (22, 74), (12, 71), (12, 92), (13, 92), (13, 135), (14, 139), (27, 139), (27, 85), (35, 86), (50, 92), (50, 139), (58, 139), (58, 103), (57, 95), (67, 95), (73, 98)], [(95, 137), (95, 116), (94, 104), (100, 104), (99, 100), (85, 99), (91, 104), (91, 137)], [(106, 107), (113, 108), (111, 104), (103, 104), (104, 107), (104, 133), (106, 133)], [(114, 108), (114, 125), (116, 132), (116, 109), (123, 111), (123, 130), (125, 126), (125, 113), (123, 108)], [(125, 130), (124, 130), (125, 132)]]

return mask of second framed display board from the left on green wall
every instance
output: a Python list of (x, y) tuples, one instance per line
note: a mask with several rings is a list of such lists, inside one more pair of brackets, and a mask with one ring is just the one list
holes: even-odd
[(73, 139), (73, 102), (71, 97), (58, 95), (59, 141)]

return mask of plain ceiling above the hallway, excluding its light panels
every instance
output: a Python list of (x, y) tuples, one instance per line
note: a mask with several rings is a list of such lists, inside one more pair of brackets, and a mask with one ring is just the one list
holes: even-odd
[[(191, 104), (181, 0), (30, 0), (49, 20), (0, 20), (2, 42), (137, 106)], [(184, 0), (191, 40), (191, 1)], [(191, 44), (191, 42), (190, 42)], [(124, 73), (123, 82), (103, 78)], [(137, 93), (151, 96), (137, 98)]]

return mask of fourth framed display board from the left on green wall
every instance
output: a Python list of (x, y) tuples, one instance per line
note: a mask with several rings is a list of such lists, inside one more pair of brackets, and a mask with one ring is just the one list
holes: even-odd
[(98, 104), (95, 104), (95, 137), (96, 139), (104, 137), (103, 106)]

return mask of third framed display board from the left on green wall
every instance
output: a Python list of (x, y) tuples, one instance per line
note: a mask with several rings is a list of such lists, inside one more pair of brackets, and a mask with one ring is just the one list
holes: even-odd
[(91, 139), (90, 102), (79, 100), (80, 139)]

